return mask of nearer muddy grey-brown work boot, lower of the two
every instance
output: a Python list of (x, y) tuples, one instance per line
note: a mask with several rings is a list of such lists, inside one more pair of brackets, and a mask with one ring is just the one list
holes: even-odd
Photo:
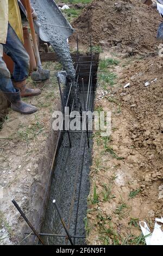
[(27, 104), (21, 100), (20, 90), (16, 89), (15, 93), (4, 93), (11, 102), (11, 109), (22, 114), (33, 114), (37, 111), (35, 106)]

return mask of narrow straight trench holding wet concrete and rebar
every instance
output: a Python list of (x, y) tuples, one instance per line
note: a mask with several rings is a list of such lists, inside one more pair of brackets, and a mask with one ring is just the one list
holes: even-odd
[[(80, 56), (76, 59), (76, 79), (78, 88), (78, 103), (74, 110), (93, 111), (97, 82), (98, 55)], [(82, 78), (84, 78), (84, 94)], [(85, 105), (84, 105), (85, 99)], [(68, 106), (72, 106), (70, 97)], [(70, 131), (72, 147), (68, 133), (63, 132), (61, 143), (55, 159), (52, 175), (51, 192), (41, 234), (46, 245), (70, 245), (62, 226), (58, 212), (55, 210), (55, 199), (63, 220), (75, 245), (85, 244), (85, 223), (87, 211), (87, 196), (90, 191), (89, 172), (92, 162), (92, 134), (89, 132)], [(90, 145), (89, 145), (90, 144)], [(46, 235), (49, 234), (49, 235)]]

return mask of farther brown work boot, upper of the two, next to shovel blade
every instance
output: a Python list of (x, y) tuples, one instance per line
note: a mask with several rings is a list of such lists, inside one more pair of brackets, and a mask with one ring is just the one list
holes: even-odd
[(36, 95), (41, 94), (41, 90), (40, 89), (30, 89), (30, 88), (27, 88), (27, 86), (26, 86), (26, 79), (21, 81), (21, 82), (12, 80), (12, 83), (13, 83), (15, 88), (20, 89), (21, 97), (36, 96)]

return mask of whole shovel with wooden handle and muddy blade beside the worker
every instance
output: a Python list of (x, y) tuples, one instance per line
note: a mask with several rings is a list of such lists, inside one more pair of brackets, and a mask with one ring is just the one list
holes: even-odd
[(32, 40), (33, 40), (33, 45), (34, 45), (34, 52), (35, 52), (37, 67), (38, 67), (38, 70), (34, 71), (31, 74), (31, 78), (32, 78), (33, 81), (47, 80), (50, 77), (50, 70), (42, 69), (40, 54), (39, 54), (39, 48), (37, 46), (37, 41), (36, 41), (36, 36), (35, 36), (35, 28), (34, 28), (32, 12), (31, 12), (30, 0), (26, 0), (26, 10), (27, 10), (27, 15), (28, 15), (28, 22), (29, 22), (29, 26), (30, 26), (30, 32), (31, 32), (31, 35), (32, 35)]

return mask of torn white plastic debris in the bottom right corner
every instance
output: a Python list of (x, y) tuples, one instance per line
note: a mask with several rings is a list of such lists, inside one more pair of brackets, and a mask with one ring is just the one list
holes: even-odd
[(149, 229), (146, 222), (141, 221), (140, 227), (147, 245), (163, 245), (163, 218), (156, 218), (153, 233)]

